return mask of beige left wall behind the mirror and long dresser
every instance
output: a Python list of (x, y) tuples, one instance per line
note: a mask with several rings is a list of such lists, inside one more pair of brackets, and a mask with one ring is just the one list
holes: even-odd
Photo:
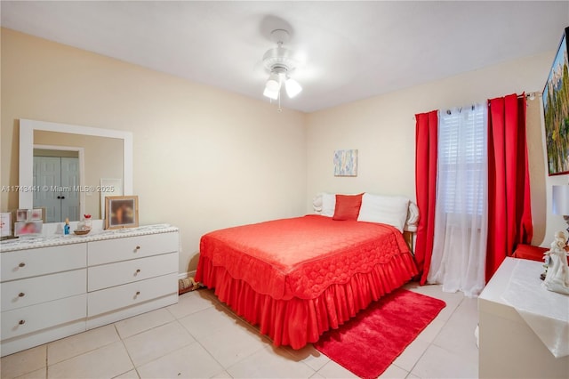
[(140, 223), (180, 228), (181, 272), (207, 231), (304, 213), (303, 113), (5, 28), (1, 48), (2, 185), (20, 118), (130, 131)]

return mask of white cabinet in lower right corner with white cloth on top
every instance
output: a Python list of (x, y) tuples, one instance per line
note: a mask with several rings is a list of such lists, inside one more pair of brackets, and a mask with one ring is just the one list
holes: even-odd
[[(569, 298), (543, 288), (541, 272), (541, 262), (508, 257), (478, 297), (480, 378), (569, 377)], [(564, 347), (556, 358), (551, 348)]]

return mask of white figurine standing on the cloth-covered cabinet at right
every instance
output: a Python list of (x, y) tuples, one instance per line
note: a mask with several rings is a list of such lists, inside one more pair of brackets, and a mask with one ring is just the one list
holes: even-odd
[(565, 233), (557, 231), (551, 248), (546, 255), (549, 255), (549, 267), (543, 280), (543, 286), (549, 291), (559, 294), (569, 294), (569, 266), (567, 265), (567, 254), (565, 253)]

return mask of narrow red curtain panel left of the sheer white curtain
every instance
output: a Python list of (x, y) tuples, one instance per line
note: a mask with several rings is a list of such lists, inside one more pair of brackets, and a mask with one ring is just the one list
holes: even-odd
[(419, 224), (415, 262), (421, 285), (427, 282), (435, 237), (435, 202), (437, 199), (437, 127), (438, 111), (415, 115), (415, 192), (419, 206)]

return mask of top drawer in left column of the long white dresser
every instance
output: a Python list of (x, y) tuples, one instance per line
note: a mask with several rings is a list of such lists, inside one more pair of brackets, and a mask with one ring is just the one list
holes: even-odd
[(87, 245), (83, 243), (5, 252), (0, 254), (0, 260), (0, 279), (3, 282), (83, 269), (87, 265)]

